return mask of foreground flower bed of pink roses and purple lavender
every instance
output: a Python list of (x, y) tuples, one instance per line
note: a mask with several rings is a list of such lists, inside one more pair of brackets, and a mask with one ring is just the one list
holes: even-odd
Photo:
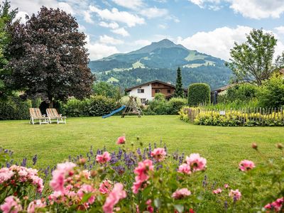
[[(126, 143), (125, 136), (118, 141)], [(143, 151), (117, 146), (122, 146), (118, 153), (94, 154), (91, 148), (87, 158), (59, 163), (49, 178), (42, 179), (38, 170), (24, 166), (1, 168), (1, 211), (283, 212), (284, 158), (262, 165), (241, 160), (244, 180), (241, 185), (231, 182), (231, 187), (209, 182), (204, 175), (207, 160), (198, 153), (170, 154), (166, 146), (152, 150), (150, 145)], [(252, 147), (258, 151), (256, 143)], [(283, 150), (283, 145), (278, 148)], [(259, 185), (261, 174), (271, 182)], [(263, 189), (263, 197), (254, 197)]]

